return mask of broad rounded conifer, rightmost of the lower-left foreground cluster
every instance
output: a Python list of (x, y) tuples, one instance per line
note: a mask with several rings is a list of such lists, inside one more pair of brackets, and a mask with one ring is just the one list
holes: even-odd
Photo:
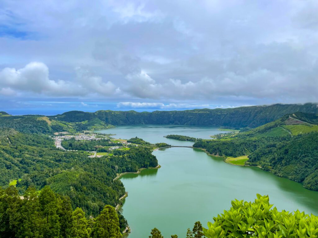
[(96, 217), (93, 238), (121, 238), (119, 220), (114, 207), (106, 205)]

